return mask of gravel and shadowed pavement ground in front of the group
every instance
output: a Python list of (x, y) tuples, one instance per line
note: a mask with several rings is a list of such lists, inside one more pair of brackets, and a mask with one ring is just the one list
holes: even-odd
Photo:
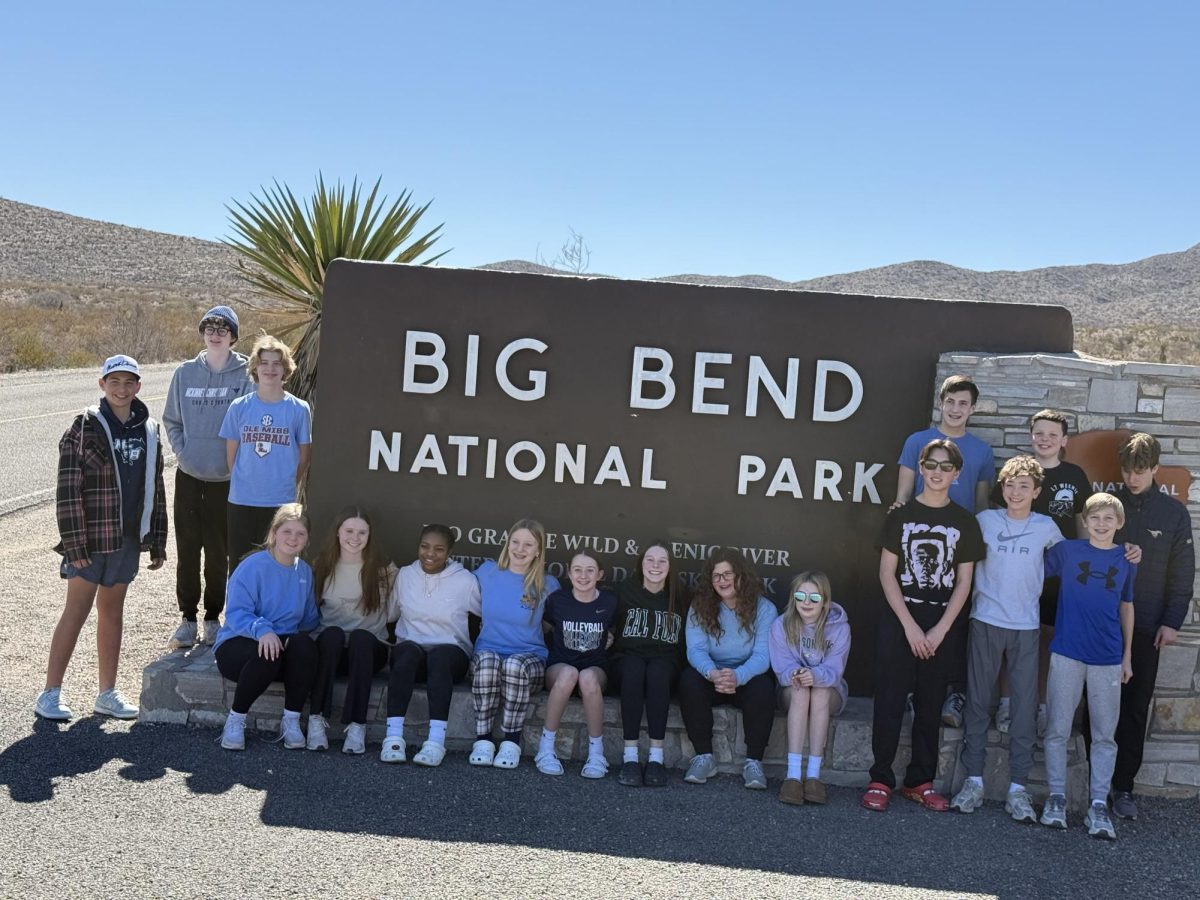
[[(168, 486), (172, 482), (168, 473)], [(289, 752), (216, 731), (30, 712), (61, 608), (53, 509), (0, 516), (0, 896), (814, 896), (1194, 895), (1200, 802), (1146, 800), (1121, 840), (896, 802), (887, 815), (832, 788), (786, 808), (720, 778), (629, 790), (526, 761), (474, 770), (384, 767), (372, 755)], [(142, 572), (126, 605), (120, 686), (175, 623), (174, 569)], [(67, 676), (96, 690), (89, 626)], [(336, 746), (336, 745), (335, 745)]]

